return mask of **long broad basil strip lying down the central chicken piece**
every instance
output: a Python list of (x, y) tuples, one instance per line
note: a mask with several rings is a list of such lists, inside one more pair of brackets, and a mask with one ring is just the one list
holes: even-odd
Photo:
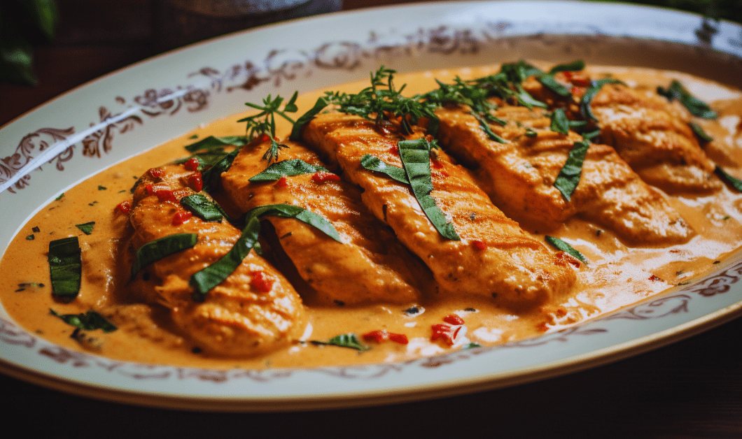
[(441, 236), (449, 240), (461, 240), (453, 224), (446, 219), (436, 205), (436, 200), (430, 196), (430, 192), (433, 191), (433, 179), (430, 176), (430, 145), (427, 140), (424, 138), (402, 140), (398, 146), (404, 172), (428, 220)]

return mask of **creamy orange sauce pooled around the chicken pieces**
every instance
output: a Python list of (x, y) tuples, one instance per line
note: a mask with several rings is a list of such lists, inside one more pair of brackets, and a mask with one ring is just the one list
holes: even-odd
[[(395, 76), (398, 85), (407, 84), (407, 93), (424, 93), (437, 88), (435, 79), (453, 82), (496, 73), (499, 66), (437, 70)], [(697, 121), (714, 142), (706, 152), (730, 174), (742, 177), (742, 93), (723, 85), (682, 73), (624, 67), (589, 67), (592, 73), (610, 72), (628, 85), (666, 87), (679, 79), (695, 96), (719, 113), (714, 121)], [(343, 85), (333, 90), (353, 93), (366, 82)], [(321, 91), (306, 93), (298, 100), (301, 114), (312, 107)], [(671, 247), (628, 247), (611, 231), (573, 218), (549, 234), (560, 237), (588, 259), (578, 270), (579, 280), (570, 294), (539, 309), (513, 314), (490, 300), (427, 297), (421, 303), (374, 306), (318, 306), (312, 294), (303, 294), (309, 323), (302, 340), (328, 340), (338, 334), (364, 334), (387, 329), (407, 334), (410, 343), (364, 342), (371, 349), (355, 351), (336, 346), (297, 343), (287, 349), (248, 359), (209, 357), (193, 351), (188, 340), (171, 329), (166, 313), (157, 306), (134, 303), (128, 293), (129, 267), (120, 257), (120, 248), (131, 233), (126, 215), (116, 205), (131, 199), (130, 189), (141, 174), (157, 165), (187, 155), (183, 146), (194, 138), (242, 135), (244, 126), (236, 115), (198, 128), (171, 142), (102, 171), (39, 211), (15, 237), (0, 263), (0, 300), (8, 313), (24, 328), (70, 349), (88, 349), (106, 357), (145, 363), (165, 363), (213, 368), (265, 368), (321, 366), (340, 363), (377, 363), (409, 360), (462, 349), (470, 343), (487, 346), (545, 331), (557, 331), (637, 303), (674, 285), (685, 283), (711, 270), (715, 263), (742, 245), (742, 194), (724, 187), (712, 196), (670, 197), (674, 208), (697, 231), (697, 236)], [(290, 127), (280, 125), (279, 136), (288, 136)], [(83, 234), (76, 224), (95, 222), (93, 233)], [(38, 231), (36, 231), (38, 230)], [(543, 235), (531, 230), (543, 241)], [(33, 236), (33, 240), (30, 239)], [(51, 294), (47, 248), (51, 240), (79, 237), (82, 248), (82, 289), (76, 300), (62, 303)], [(43, 286), (39, 285), (43, 284)], [(300, 293), (304, 292), (298, 288)], [(430, 294), (432, 295), (432, 294)], [(417, 313), (405, 312), (415, 306)], [(109, 334), (90, 331), (94, 343), (70, 338), (73, 327), (50, 314), (78, 314), (95, 310), (110, 317), (119, 330)], [(457, 314), (465, 322), (455, 346), (431, 341), (431, 325)]]

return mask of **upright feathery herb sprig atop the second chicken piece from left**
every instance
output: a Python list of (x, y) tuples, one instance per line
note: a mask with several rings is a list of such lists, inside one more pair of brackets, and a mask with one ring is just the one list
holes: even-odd
[[(291, 96), (291, 99), (289, 99), (289, 102), (286, 102), (285, 105), (283, 105), (283, 97), (279, 95), (276, 95), (275, 98), (271, 95), (263, 98), (263, 105), (253, 104), (252, 102), (245, 102), (245, 105), (247, 105), (248, 107), (260, 110), (260, 113), (257, 113), (253, 116), (248, 116), (237, 121), (246, 122), (245, 131), (247, 138), (249, 140), (253, 140), (257, 139), (258, 136), (266, 134), (270, 137), (271, 140), (271, 145), (268, 148), (268, 151), (266, 151), (266, 154), (263, 154), (263, 160), (267, 160), (268, 162), (278, 160), (278, 151), (280, 151), (280, 149), (282, 148), (289, 148), (288, 145), (278, 143), (275, 139), (275, 118), (278, 114), (278, 116), (283, 117), (283, 119), (286, 119), (292, 125), (295, 124), (294, 119), (289, 117), (286, 113), (296, 113), (298, 111), (298, 107), (296, 106), (296, 99), (298, 98), (298, 96), (299, 92), (295, 91), (294, 94)], [(280, 109), (281, 105), (283, 105), (283, 110)]]

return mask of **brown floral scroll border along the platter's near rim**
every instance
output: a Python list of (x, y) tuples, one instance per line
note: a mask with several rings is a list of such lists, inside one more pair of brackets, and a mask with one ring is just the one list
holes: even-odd
[(275, 380), (283, 380), (292, 377), (296, 372), (314, 372), (330, 377), (345, 379), (372, 380), (384, 377), (387, 374), (401, 372), (410, 366), (418, 366), (424, 369), (447, 366), (457, 361), (467, 360), (493, 350), (500, 349), (522, 349), (534, 346), (543, 346), (552, 343), (565, 343), (574, 337), (588, 337), (591, 335), (607, 334), (608, 329), (600, 327), (600, 324), (609, 320), (650, 320), (662, 319), (674, 314), (689, 312), (689, 305), (694, 300), (714, 297), (718, 294), (726, 294), (732, 286), (742, 279), (742, 261), (720, 271), (717, 274), (698, 280), (686, 285), (683, 290), (672, 294), (660, 294), (653, 300), (640, 303), (636, 306), (600, 317), (597, 320), (588, 320), (577, 326), (554, 331), (541, 337), (519, 340), (512, 343), (504, 343), (498, 346), (487, 346), (474, 349), (461, 349), (451, 351), (447, 354), (425, 357), (419, 360), (410, 360), (399, 363), (380, 363), (361, 366), (328, 366), (313, 369), (194, 369), (176, 366), (157, 366), (142, 363), (130, 363), (120, 360), (111, 360), (105, 357), (97, 357), (81, 351), (70, 349), (48, 343), (24, 329), (16, 326), (9, 320), (0, 318), (0, 346), (9, 344), (21, 346), (25, 349), (35, 349), (43, 357), (56, 363), (66, 364), (73, 368), (99, 368), (105, 372), (116, 373), (134, 380), (201, 380), (214, 383), (226, 383), (231, 380), (250, 380), (256, 383), (270, 383)]

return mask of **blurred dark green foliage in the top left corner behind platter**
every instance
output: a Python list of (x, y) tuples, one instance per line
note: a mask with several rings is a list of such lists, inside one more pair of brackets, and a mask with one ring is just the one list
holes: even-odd
[(54, 0), (0, 0), (0, 80), (36, 84), (32, 44), (51, 42), (57, 22)]

